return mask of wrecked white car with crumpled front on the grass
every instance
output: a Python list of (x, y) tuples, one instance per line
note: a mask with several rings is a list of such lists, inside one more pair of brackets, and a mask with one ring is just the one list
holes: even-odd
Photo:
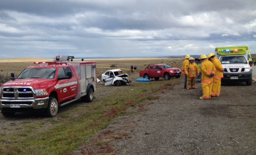
[(105, 86), (129, 85), (132, 81), (128, 76), (128, 74), (123, 74), (121, 69), (111, 69), (101, 74), (101, 81), (104, 82)]

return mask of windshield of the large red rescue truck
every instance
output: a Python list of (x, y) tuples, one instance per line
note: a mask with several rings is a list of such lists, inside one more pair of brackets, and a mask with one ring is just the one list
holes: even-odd
[(21, 78), (46, 78), (52, 79), (55, 75), (55, 68), (27, 68), (24, 69), (17, 79)]

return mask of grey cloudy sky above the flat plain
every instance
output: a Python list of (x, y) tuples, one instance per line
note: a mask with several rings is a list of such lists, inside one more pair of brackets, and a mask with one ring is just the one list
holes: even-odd
[(256, 0), (0, 0), (0, 58), (256, 53)]

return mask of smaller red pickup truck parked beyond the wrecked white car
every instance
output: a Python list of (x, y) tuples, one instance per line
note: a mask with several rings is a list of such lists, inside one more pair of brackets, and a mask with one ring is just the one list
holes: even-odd
[(173, 68), (167, 64), (154, 64), (148, 65), (146, 69), (139, 70), (139, 76), (150, 79), (154, 78), (159, 80), (160, 77), (169, 80), (171, 77), (179, 78), (181, 70), (178, 68)]

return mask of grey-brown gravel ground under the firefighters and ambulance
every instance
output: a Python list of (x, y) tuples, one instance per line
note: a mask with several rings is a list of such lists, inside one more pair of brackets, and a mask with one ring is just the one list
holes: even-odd
[(115, 118), (73, 155), (256, 155), (256, 83), (223, 84), (220, 97), (199, 100), (200, 83), (186, 90), (183, 80), (131, 107), (137, 112)]

